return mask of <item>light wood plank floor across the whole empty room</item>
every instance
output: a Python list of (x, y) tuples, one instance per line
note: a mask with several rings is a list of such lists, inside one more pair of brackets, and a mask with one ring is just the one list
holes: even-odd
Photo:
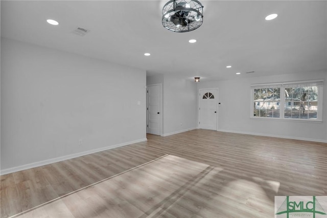
[(1, 217), (273, 217), (275, 195), (327, 195), (327, 143), (147, 138), (1, 176)]

